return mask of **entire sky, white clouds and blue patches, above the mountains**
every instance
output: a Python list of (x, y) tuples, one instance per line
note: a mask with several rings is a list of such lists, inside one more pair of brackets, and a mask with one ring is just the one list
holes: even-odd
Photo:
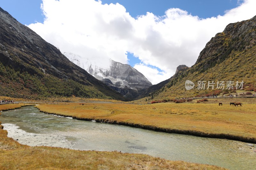
[(178, 65), (193, 65), (229, 23), (256, 15), (256, 0), (44, 0), (41, 9), (42, 3), (1, 0), (0, 7), (62, 53), (128, 63), (152, 84)]

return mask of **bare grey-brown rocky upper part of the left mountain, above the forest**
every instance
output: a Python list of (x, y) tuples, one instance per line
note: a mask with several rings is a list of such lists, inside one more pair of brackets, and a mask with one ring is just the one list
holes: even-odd
[(27, 71), (31, 75), (36, 74), (38, 79), (44, 75), (64, 80), (72, 79), (81, 85), (93, 86), (101, 92), (107, 92), (108, 96), (123, 98), (84, 69), (70, 62), (59, 49), (44, 41), (27, 26), (20, 24), (2, 8), (0, 8), (0, 62), (20, 73)]

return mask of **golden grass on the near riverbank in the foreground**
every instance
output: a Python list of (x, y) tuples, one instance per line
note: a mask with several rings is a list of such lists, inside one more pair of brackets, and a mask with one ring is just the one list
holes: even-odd
[[(5, 105), (5, 108), (8, 105)], [(55, 105), (56, 106), (56, 105)], [(0, 105), (0, 107), (3, 107)], [(9, 105), (9, 108), (12, 107)], [(1, 122), (0, 122), (1, 124)], [(0, 128), (0, 169), (225, 169), (218, 166), (171, 161), (145, 154), (77, 151), (30, 147), (7, 137)]]

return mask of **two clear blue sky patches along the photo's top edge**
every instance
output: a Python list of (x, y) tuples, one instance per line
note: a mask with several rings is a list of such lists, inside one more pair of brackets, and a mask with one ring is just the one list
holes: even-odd
[[(169, 8), (180, 8), (199, 18), (216, 17), (224, 11), (235, 8), (237, 0), (102, 0), (102, 4), (119, 3), (132, 17), (152, 12), (163, 16)], [(0, 7), (9, 12), (24, 25), (43, 22), (44, 15), (40, 9), (42, 0), (1, 0)]]

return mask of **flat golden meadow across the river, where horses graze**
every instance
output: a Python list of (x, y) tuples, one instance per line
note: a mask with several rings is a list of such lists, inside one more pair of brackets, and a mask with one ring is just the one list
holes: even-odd
[(232, 107), (229, 101), (223, 101), (221, 107), (218, 103), (70, 103), (36, 107), (45, 113), (80, 120), (256, 143), (256, 104), (244, 103), (242, 107)]

